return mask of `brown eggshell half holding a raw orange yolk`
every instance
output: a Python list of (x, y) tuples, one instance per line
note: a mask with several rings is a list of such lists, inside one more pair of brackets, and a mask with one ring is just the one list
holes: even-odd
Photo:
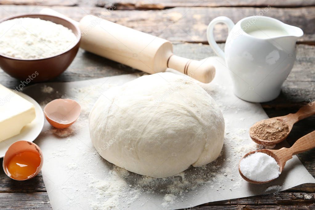
[[(24, 154), (26, 155), (23, 156)], [(12, 163), (14, 159), (21, 162), (18, 161)], [(25, 164), (25, 162), (27, 164)], [(24, 181), (35, 177), (42, 170), (43, 162), (42, 150), (35, 143), (29, 141), (17, 141), (10, 145), (3, 157), (3, 170), (11, 179)], [(22, 174), (21, 171), (15, 171), (18, 167), (23, 168), (24, 173), (26, 174)], [(31, 169), (34, 170), (26, 169), (27, 167), (31, 167)], [(30, 171), (31, 173), (27, 173)]]

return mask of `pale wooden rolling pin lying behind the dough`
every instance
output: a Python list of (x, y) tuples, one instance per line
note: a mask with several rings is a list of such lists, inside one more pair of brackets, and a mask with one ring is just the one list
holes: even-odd
[(200, 82), (211, 82), (215, 67), (209, 61), (197, 61), (173, 54), (172, 43), (93, 15), (76, 22), (52, 9), (41, 14), (62, 17), (81, 29), (80, 47), (102, 57), (145, 71), (163, 72), (168, 67), (191, 76)]

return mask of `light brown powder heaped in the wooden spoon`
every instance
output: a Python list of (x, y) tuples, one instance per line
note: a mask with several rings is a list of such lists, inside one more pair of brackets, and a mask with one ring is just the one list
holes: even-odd
[(251, 136), (264, 141), (283, 139), (289, 133), (289, 126), (277, 119), (266, 119), (249, 129)]

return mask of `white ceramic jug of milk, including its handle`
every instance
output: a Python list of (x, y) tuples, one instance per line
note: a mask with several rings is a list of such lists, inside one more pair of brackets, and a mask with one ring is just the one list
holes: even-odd
[[(224, 52), (215, 42), (217, 23), (228, 26)], [(212, 20), (207, 29), (210, 46), (225, 59), (234, 84), (234, 93), (250, 102), (277, 98), (295, 61), (295, 43), (303, 31), (264, 16), (246, 17), (234, 25), (227, 17)]]

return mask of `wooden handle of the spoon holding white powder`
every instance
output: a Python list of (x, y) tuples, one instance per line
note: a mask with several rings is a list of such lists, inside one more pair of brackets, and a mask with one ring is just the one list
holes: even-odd
[(292, 145), (288, 149), (288, 152), (291, 153), (292, 155), (296, 155), (313, 148), (315, 148), (315, 131), (308, 133), (305, 136), (298, 139), (294, 143), (294, 145)]

